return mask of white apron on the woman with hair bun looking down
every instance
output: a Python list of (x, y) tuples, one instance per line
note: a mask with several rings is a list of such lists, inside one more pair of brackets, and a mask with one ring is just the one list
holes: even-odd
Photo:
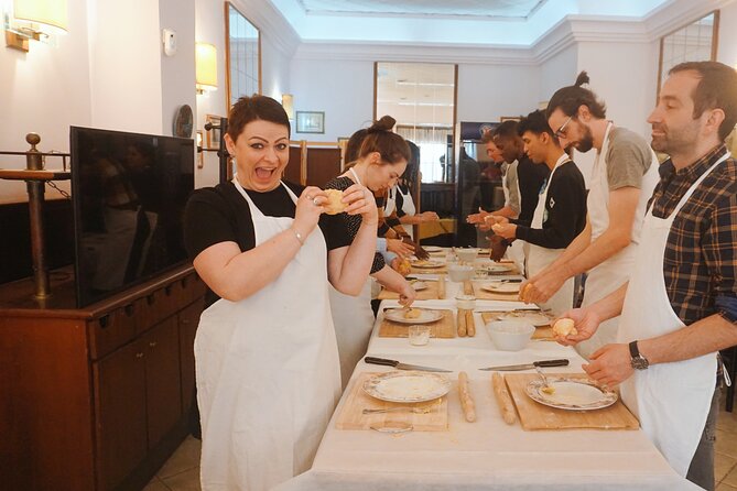
[[(361, 184), (358, 174), (350, 168), (356, 183)], [(391, 209), (387, 216), (393, 211), (394, 198), (392, 189), (387, 194), (387, 204), (390, 203)], [(384, 208), (386, 209), (386, 208)], [(348, 384), (350, 374), (354, 372), (358, 361), (368, 350), (369, 338), (373, 328), (373, 310), (371, 310), (371, 284), (369, 276), (364, 283), (361, 293), (358, 296), (343, 294), (330, 286), (330, 312), (333, 324), (335, 325), (335, 337), (338, 342), (338, 354), (340, 357), (340, 379), (343, 388)]]

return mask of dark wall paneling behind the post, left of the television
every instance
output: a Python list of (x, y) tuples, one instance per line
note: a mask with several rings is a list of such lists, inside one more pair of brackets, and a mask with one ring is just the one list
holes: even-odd
[[(55, 193), (55, 192), (54, 192)], [(51, 193), (47, 193), (50, 195)], [(46, 258), (51, 269), (74, 262), (74, 220), (72, 201), (53, 199), (44, 204)], [(29, 204), (0, 205), (0, 283), (33, 274)]]

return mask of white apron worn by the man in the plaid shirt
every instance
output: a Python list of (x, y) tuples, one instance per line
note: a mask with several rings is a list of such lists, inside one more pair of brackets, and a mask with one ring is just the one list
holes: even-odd
[[(681, 198), (668, 218), (648, 212), (619, 320), (618, 342), (648, 339), (683, 328), (665, 290), (663, 258), (673, 219), (694, 189), (727, 153)], [(621, 397), (642, 429), (681, 476), (686, 474), (706, 424), (716, 382), (716, 353), (636, 370), (621, 384)]]

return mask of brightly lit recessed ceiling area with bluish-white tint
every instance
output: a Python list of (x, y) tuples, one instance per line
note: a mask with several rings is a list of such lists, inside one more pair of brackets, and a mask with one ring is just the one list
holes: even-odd
[(679, 0), (269, 1), (302, 43), (531, 47), (566, 17), (640, 21)]

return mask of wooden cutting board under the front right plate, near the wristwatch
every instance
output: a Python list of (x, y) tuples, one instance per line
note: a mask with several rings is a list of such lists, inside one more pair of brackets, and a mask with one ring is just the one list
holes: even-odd
[[(545, 375), (586, 379), (585, 373), (545, 373)], [(509, 393), (524, 429), (638, 429), (640, 427), (640, 423), (621, 400), (609, 407), (594, 411), (566, 411), (540, 404), (524, 392), (527, 384), (535, 379), (538, 379), (535, 373), (505, 374)]]

